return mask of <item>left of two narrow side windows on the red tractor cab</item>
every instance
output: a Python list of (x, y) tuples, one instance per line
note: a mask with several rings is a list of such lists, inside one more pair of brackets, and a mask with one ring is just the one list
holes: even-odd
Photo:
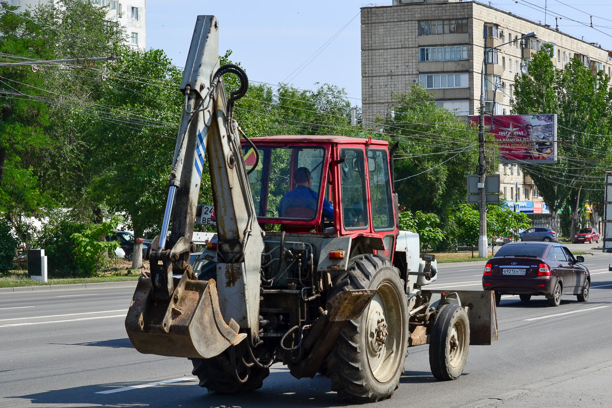
[(365, 157), (360, 149), (341, 149), (340, 178), (342, 191), (342, 218), (346, 229), (368, 226), (368, 202), (365, 198)]

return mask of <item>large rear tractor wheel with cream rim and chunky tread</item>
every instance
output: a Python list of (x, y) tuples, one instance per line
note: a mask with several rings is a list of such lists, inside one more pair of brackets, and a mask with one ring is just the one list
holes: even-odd
[(393, 264), (378, 255), (352, 258), (335, 276), (331, 299), (351, 289), (376, 289), (359, 318), (348, 321), (326, 359), (332, 390), (343, 399), (367, 402), (393, 395), (408, 355), (408, 306)]

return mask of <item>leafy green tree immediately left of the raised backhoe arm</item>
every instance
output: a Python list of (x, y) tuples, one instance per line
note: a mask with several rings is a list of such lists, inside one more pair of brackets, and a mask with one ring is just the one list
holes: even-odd
[[(116, 119), (99, 119), (87, 133), (92, 191), (114, 213), (129, 217), (134, 235), (159, 228), (182, 112), (182, 73), (162, 50), (124, 50), (109, 67), (98, 106)], [(136, 80), (125, 87), (126, 78)]]

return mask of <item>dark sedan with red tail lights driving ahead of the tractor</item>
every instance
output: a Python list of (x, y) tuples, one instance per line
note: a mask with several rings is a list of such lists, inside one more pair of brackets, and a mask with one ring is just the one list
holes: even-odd
[(508, 243), (487, 261), (482, 288), (495, 291), (498, 305), (501, 295), (519, 295), (523, 302), (543, 295), (551, 306), (559, 306), (561, 295), (586, 302), (591, 275), (581, 262), (582, 256), (573, 256), (559, 243)]

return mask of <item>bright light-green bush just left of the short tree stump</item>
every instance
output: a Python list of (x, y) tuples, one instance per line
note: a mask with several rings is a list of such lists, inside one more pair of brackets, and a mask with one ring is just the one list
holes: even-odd
[(70, 236), (76, 244), (76, 258), (90, 273), (95, 275), (97, 270), (108, 269), (113, 264), (114, 250), (119, 247), (119, 242), (106, 241), (106, 237), (117, 229), (120, 221), (121, 217), (113, 217), (110, 221), (91, 224)]

